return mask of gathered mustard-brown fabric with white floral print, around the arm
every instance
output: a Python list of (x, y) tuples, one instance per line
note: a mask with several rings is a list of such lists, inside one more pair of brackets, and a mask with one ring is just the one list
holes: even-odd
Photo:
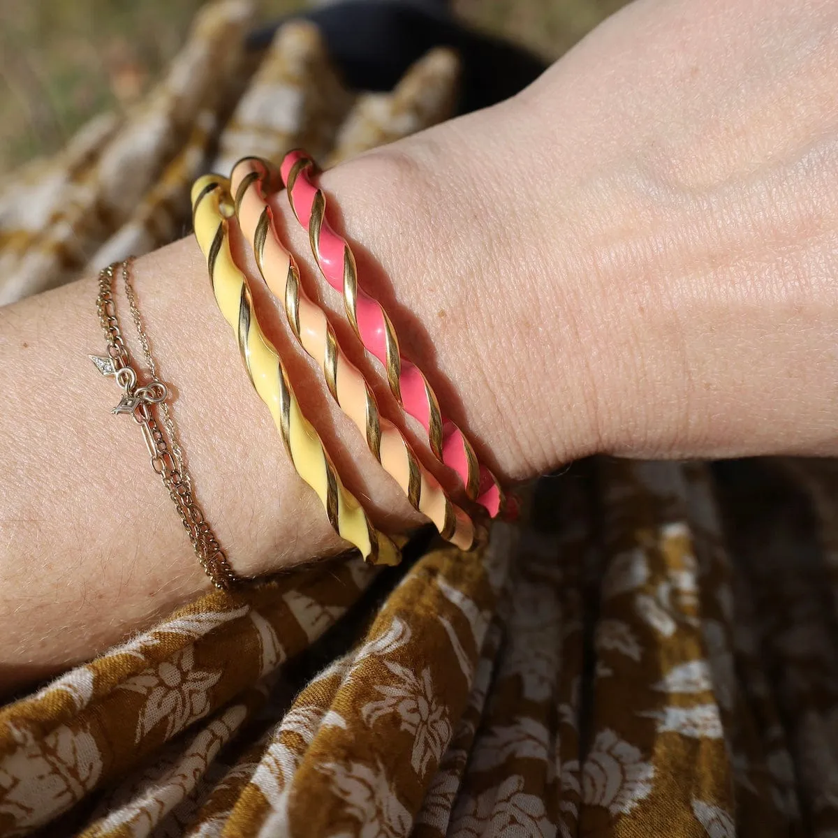
[[(451, 50), (349, 91), (310, 24), (250, 54), (252, 12), (0, 186), (0, 302), (170, 241), (214, 159), (450, 114)], [(838, 838), (836, 506), (830, 461), (596, 458), (476, 551), (213, 593), (0, 710), (0, 835)]]

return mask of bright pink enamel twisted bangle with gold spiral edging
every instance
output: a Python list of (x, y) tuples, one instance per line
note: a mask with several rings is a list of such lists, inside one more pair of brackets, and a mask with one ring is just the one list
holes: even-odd
[(311, 173), (317, 171), (313, 158), (300, 149), (282, 159), (282, 179), (287, 186), (288, 200), (297, 221), (308, 228), (308, 238), (323, 277), (343, 293), (346, 314), (355, 334), (365, 349), (385, 366), (387, 382), (396, 401), (409, 416), (422, 423), (434, 456), (458, 474), (468, 497), (494, 518), (504, 507), (504, 494), (497, 478), (478, 463), (471, 442), (460, 428), (443, 418), (437, 396), (422, 370), (401, 357), (396, 330), (384, 308), (358, 287), (352, 250), (329, 225), (323, 190), (312, 182)]

